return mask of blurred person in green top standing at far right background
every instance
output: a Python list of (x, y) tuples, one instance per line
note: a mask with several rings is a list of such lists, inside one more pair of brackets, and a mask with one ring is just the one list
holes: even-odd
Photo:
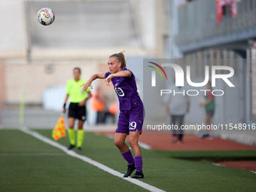
[[(200, 107), (204, 107), (206, 110), (206, 126), (211, 126), (212, 125), (212, 117), (215, 113), (215, 97), (212, 95), (212, 83), (211, 81), (208, 81), (206, 84), (206, 96), (204, 96), (203, 102), (200, 102)], [(206, 133), (201, 135), (200, 137), (202, 138), (212, 138), (212, 130), (207, 130)]]

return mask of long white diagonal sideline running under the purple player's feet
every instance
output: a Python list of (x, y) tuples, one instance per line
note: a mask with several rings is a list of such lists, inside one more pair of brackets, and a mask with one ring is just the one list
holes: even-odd
[[(78, 159), (84, 160), (85, 162), (90, 163), (91, 165), (96, 166), (96, 167), (98, 167), (99, 169), (104, 170), (105, 172), (109, 172), (109, 173), (111, 173), (112, 175), (115, 175), (115, 176), (117, 176), (117, 177), (119, 177), (119, 178), (123, 178), (123, 174), (122, 174), (122, 173), (117, 172), (117, 171), (115, 171), (114, 169), (111, 169), (111, 168), (109, 168), (108, 166), (103, 165), (102, 163), (98, 163), (98, 162), (96, 162), (95, 160), (91, 160), (91, 159), (88, 158), (88, 157), (85, 157), (85, 156), (83, 156), (83, 155), (77, 154), (77, 153), (75, 153), (75, 151), (69, 151), (65, 146), (60, 145), (59, 143), (54, 142), (53, 140), (48, 139), (47, 137), (42, 136), (41, 134), (39, 134), (39, 133), (37, 133), (37, 132), (31, 131), (31, 130), (26, 129), (26, 128), (24, 128), (24, 127), (21, 128), (20, 130), (23, 131), (23, 133), (27, 133), (27, 134), (29, 134), (29, 135), (31, 135), (31, 136), (34, 136), (36, 139), (39, 139), (39, 140), (41, 140), (42, 142), (45, 142), (45, 143), (50, 144), (50, 145), (52, 145), (52, 146), (54, 146), (54, 147), (56, 147), (56, 148), (59, 148), (60, 150), (66, 152), (66, 154), (69, 154), (69, 155), (72, 156), (72, 157), (77, 157)], [(146, 184), (145, 182), (139, 181), (139, 180), (136, 179), (136, 178), (130, 178), (130, 177), (129, 177), (129, 178), (123, 178), (123, 179), (126, 180), (126, 181), (130, 181), (130, 182), (133, 183), (133, 184), (137, 184), (137, 185), (139, 185), (140, 187), (143, 187), (143, 188), (145, 188), (146, 190), (149, 190), (149, 191), (153, 191), (153, 192), (165, 192), (165, 190), (161, 190), (161, 189), (159, 189), (159, 188), (157, 188), (157, 187), (154, 187), (154, 186), (152, 186), (152, 185), (150, 185), (150, 184)]]

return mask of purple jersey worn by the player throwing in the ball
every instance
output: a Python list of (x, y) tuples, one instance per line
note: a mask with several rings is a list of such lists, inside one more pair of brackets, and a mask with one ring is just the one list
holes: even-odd
[[(128, 69), (123, 68), (122, 71), (126, 70)], [(131, 73), (131, 78), (117, 77), (111, 79), (112, 84), (114, 85), (114, 90), (119, 99), (120, 111), (130, 110), (131, 108), (135, 108), (143, 104), (139, 97), (139, 93), (137, 92), (135, 76), (133, 75), (133, 72)], [(111, 75), (111, 72), (106, 72), (105, 78), (108, 78), (108, 75)]]

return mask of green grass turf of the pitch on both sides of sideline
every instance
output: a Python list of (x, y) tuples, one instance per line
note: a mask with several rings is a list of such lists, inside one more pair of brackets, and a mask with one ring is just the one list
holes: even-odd
[[(51, 138), (51, 130), (36, 131)], [(59, 139), (58, 142), (69, 145), (68, 137)], [(17, 130), (0, 130), (0, 146), (0, 191), (144, 191), (142, 187), (117, 178), (75, 157), (69, 157), (63, 151)], [(44, 155), (24, 155), (33, 153)], [(83, 151), (78, 154), (90, 157), (118, 172), (126, 171), (126, 161), (114, 146), (114, 139), (85, 133)], [(145, 174), (142, 181), (163, 190), (256, 190), (256, 174), (252, 172), (181, 159), (255, 159), (256, 151), (142, 149), (142, 155)]]

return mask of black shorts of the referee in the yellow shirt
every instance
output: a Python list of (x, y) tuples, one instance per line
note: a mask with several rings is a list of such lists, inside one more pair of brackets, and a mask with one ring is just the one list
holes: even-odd
[(69, 117), (74, 117), (78, 120), (86, 120), (87, 110), (86, 106), (79, 106), (78, 102), (70, 102), (69, 104)]

